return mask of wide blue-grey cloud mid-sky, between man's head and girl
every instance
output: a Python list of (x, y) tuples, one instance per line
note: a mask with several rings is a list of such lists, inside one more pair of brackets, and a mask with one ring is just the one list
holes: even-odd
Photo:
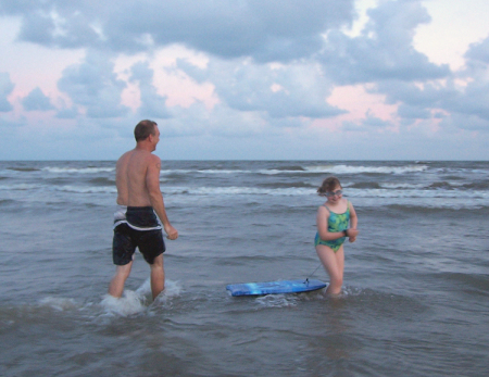
[(247, 59), (211, 59), (205, 68), (181, 60), (178, 67), (200, 83), (211, 81), (220, 100), (237, 111), (258, 111), (275, 118), (322, 118), (344, 113), (326, 102), (333, 86), (314, 63), (252, 64)]

